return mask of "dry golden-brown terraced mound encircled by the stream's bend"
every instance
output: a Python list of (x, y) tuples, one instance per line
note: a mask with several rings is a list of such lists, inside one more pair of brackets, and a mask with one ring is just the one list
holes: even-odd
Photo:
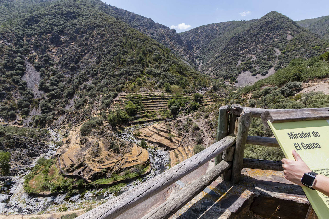
[[(90, 181), (112, 172), (120, 173), (138, 164), (148, 164), (149, 154), (144, 148), (131, 142), (118, 141), (109, 135), (84, 138), (80, 136), (80, 127), (72, 128), (64, 139), (65, 144), (57, 152), (58, 166), (67, 175), (78, 175)], [(114, 150), (115, 144), (119, 151)]]

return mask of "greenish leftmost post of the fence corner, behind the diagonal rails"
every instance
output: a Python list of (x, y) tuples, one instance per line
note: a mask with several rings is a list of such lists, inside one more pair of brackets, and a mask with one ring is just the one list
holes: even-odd
[[(227, 136), (230, 105), (219, 107), (216, 142)], [(215, 157), (215, 165), (222, 160), (222, 153)]]

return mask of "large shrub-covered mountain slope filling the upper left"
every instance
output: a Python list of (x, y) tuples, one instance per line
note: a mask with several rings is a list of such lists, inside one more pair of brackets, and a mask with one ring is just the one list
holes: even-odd
[[(106, 8), (100, 1), (57, 1), (2, 26), (3, 119), (24, 119), (38, 106), (35, 126), (51, 124), (67, 110), (88, 115), (110, 106), (135, 81), (160, 88), (176, 84), (182, 93), (208, 83), (168, 48), (105, 13), (98, 3)], [(41, 98), (22, 80), (29, 63), (41, 76), (36, 82), (44, 92)]]

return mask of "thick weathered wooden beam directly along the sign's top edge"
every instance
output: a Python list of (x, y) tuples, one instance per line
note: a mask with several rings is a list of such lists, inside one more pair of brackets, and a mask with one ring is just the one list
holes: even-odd
[(266, 125), (268, 120), (271, 123), (327, 120), (329, 119), (329, 107), (265, 111), (262, 113), (261, 118)]

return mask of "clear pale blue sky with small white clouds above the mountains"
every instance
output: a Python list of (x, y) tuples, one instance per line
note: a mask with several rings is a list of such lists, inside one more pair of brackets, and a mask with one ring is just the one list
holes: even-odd
[(174, 1), (174, 0), (102, 0), (112, 6), (151, 18), (155, 22), (187, 31), (201, 25), (231, 20), (260, 18), (270, 11), (278, 11), (292, 20), (303, 20), (329, 15), (329, 1)]

